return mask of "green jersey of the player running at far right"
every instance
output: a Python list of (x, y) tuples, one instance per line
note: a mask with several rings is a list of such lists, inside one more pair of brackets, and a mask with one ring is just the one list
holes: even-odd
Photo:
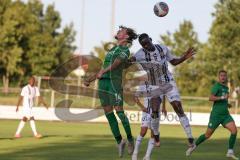
[[(211, 94), (215, 95), (217, 97), (224, 96), (229, 93), (229, 89), (227, 86), (222, 85), (221, 83), (217, 82), (214, 84), (211, 90)], [(213, 103), (212, 108), (212, 114), (213, 115), (226, 115), (229, 114), (228, 111), (228, 100), (218, 100)]]

